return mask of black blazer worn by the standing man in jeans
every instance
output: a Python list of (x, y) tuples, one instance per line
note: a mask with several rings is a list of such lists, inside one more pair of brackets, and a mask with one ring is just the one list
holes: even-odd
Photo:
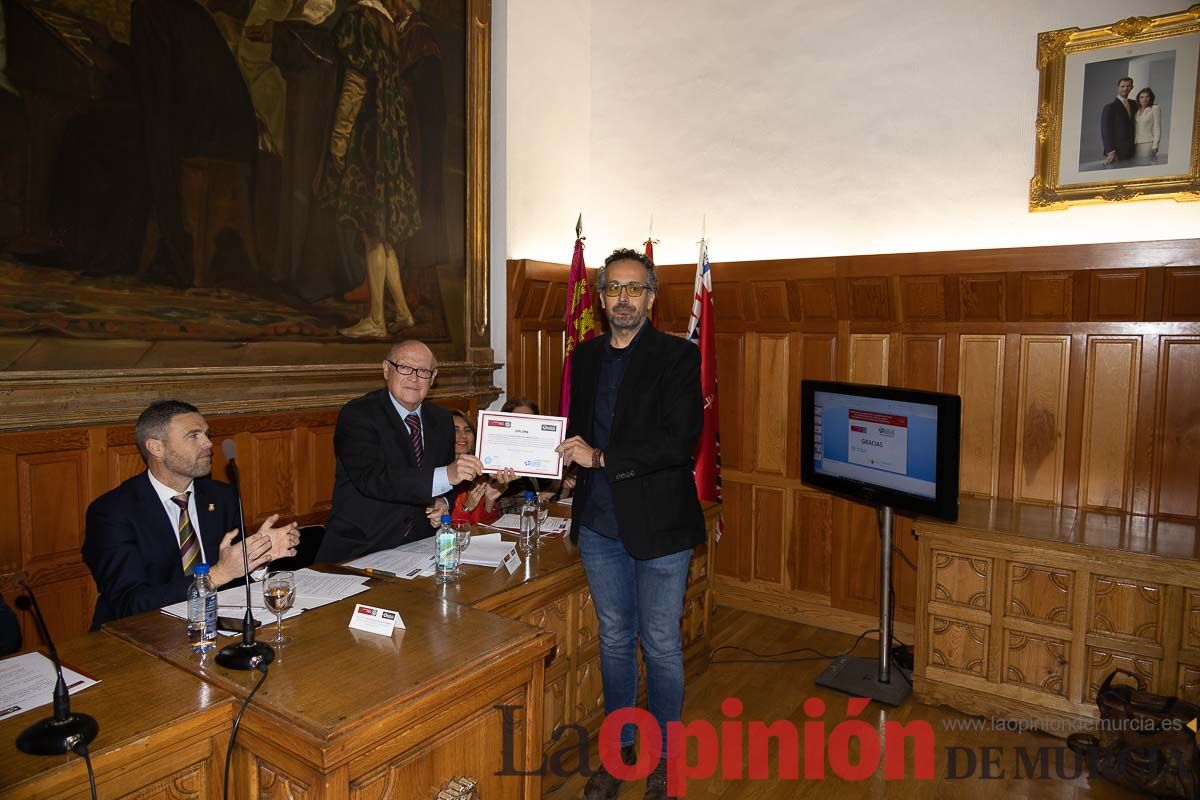
[[(571, 409), (566, 435), (590, 443), (600, 354), (608, 336), (580, 344), (571, 356)], [(646, 323), (620, 390), (604, 470), (612, 485), (625, 548), (638, 559), (678, 553), (704, 541), (692, 455), (704, 423), (700, 348)], [(580, 469), (571, 504), (571, 539), (593, 470)]]

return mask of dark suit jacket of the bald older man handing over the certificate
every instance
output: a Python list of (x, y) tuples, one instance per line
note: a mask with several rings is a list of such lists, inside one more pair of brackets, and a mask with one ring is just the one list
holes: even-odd
[(334, 431), (334, 509), (318, 561), (347, 561), (433, 534), (425, 509), (433, 501), (433, 469), (454, 461), (454, 422), (430, 401), (421, 404), (421, 420), (425, 458), (418, 467), (408, 426), (386, 389), (342, 408)]

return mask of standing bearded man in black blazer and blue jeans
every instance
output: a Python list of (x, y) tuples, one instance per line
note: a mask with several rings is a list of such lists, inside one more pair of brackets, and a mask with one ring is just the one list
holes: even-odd
[[(679, 618), (691, 551), (704, 541), (704, 517), (692, 479), (692, 452), (703, 426), (700, 349), (647, 321), (658, 278), (632, 249), (613, 252), (600, 269), (610, 332), (572, 356), (565, 464), (578, 464), (571, 540), (600, 619), (605, 712), (637, 704), (636, 643), (646, 661), (646, 696), (664, 734), (662, 754), (646, 798), (666, 796), (666, 727), (683, 708)], [(622, 758), (634, 762), (634, 728), (620, 734)], [(622, 781), (602, 766), (587, 800), (616, 798)]]

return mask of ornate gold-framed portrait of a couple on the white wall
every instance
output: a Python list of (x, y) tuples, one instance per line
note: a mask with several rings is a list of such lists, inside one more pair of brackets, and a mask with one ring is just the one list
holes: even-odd
[(1038, 35), (1030, 210), (1200, 199), (1200, 5)]

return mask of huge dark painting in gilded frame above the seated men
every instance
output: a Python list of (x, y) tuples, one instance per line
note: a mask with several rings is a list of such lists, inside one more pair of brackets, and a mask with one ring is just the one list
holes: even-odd
[(490, 0), (0, 8), (7, 425), (336, 402), (401, 338), (491, 383)]

